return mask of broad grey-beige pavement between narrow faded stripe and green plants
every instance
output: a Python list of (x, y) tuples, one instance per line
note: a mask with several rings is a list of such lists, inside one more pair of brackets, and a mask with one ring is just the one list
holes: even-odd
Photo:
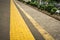
[(30, 16), (32, 16), (55, 40), (60, 40), (60, 21), (45, 15), (21, 2), (16, 1)]

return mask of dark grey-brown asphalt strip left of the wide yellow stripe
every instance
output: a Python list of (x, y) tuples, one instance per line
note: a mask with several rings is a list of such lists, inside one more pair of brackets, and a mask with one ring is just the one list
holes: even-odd
[(0, 40), (9, 40), (10, 0), (0, 0)]

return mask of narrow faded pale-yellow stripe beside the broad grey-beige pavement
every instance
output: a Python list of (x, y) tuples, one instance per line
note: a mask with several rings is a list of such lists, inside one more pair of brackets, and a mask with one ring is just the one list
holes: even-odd
[[(15, 1), (16, 3), (16, 1)], [(25, 12), (19, 4), (16, 5), (24, 12), (27, 18), (31, 21), (31, 23), (35, 26), (35, 28), (41, 33), (45, 40), (55, 40), (47, 31), (45, 31), (27, 12)]]

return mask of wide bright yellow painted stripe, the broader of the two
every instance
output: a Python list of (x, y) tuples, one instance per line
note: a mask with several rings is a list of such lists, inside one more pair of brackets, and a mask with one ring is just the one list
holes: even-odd
[(10, 40), (35, 40), (13, 0), (10, 3)]

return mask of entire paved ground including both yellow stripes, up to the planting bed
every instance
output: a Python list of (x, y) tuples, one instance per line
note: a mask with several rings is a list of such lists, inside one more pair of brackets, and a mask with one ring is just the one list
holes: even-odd
[(0, 3), (0, 40), (60, 40), (60, 21), (17, 0)]

